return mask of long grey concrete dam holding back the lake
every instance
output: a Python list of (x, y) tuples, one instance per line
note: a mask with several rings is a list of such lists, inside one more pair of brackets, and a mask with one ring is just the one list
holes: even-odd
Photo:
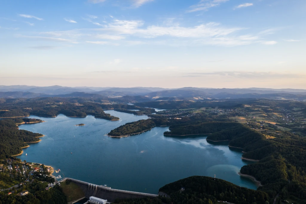
[(148, 194), (148, 193), (112, 189), (109, 187), (99, 186), (93, 183), (88, 183), (88, 182), (71, 179), (71, 178), (62, 179), (59, 182), (62, 183), (62, 182), (65, 182), (66, 180), (76, 183), (84, 192), (85, 198), (88, 198), (88, 199), (90, 196), (94, 196), (97, 198), (106, 199), (109, 202), (114, 202), (115, 199), (147, 198), (147, 197), (154, 198), (158, 196), (156, 194)]

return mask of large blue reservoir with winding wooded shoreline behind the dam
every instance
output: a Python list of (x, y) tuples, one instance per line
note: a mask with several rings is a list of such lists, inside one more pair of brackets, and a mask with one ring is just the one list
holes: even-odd
[[(165, 137), (163, 132), (168, 127), (154, 127), (131, 137), (110, 138), (105, 136), (110, 130), (148, 117), (114, 110), (105, 112), (120, 120), (96, 119), (91, 115), (85, 118), (30, 115), (29, 118), (46, 122), (23, 124), (19, 128), (45, 137), (40, 138), (41, 142), (30, 143), (18, 157), (60, 168), (62, 178), (127, 191), (157, 194), (165, 184), (195, 175), (216, 175), (242, 187), (257, 188), (251, 180), (238, 175), (240, 168), (248, 164), (241, 160), (241, 150), (229, 149), (226, 143), (208, 143), (204, 135)], [(80, 123), (85, 126), (75, 126)]]

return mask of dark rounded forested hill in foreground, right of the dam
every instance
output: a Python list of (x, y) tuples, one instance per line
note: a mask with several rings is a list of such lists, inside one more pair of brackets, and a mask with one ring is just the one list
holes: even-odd
[[(185, 191), (181, 191), (182, 187)], [(235, 204), (267, 204), (273, 202), (263, 191), (239, 187), (225, 180), (207, 176), (181, 179), (161, 187), (159, 191), (170, 195), (172, 203), (208, 204), (226, 201)]]

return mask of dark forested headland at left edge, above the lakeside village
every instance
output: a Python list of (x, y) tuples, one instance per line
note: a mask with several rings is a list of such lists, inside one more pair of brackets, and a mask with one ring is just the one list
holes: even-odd
[(0, 120), (0, 159), (21, 153), (25, 142), (37, 142), (42, 134), (18, 130), (13, 120)]

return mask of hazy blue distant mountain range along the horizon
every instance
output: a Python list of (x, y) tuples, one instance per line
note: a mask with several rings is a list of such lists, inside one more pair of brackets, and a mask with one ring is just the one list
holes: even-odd
[(205, 99), (237, 99), (237, 98), (273, 98), (305, 100), (305, 89), (213, 89), (184, 87), (164, 89), (158, 87), (64, 87), (64, 86), (27, 86), (0, 85), (0, 98), (35, 98), (35, 97), (84, 97), (119, 101), (148, 100), (205, 100)]

